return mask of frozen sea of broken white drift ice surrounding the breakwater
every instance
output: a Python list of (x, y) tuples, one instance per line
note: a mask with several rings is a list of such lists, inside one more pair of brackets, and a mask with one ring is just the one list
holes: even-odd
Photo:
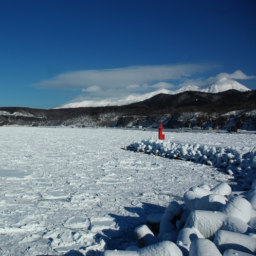
[[(256, 135), (165, 133), (177, 142), (250, 147)], [(191, 187), (231, 176), (216, 168), (124, 151), (158, 133), (106, 128), (0, 127), (0, 254), (101, 254), (137, 245), (150, 214)], [(82, 253), (82, 254), (81, 254)]]

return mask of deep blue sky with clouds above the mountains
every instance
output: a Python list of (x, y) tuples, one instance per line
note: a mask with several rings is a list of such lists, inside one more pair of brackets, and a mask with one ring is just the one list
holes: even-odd
[(50, 108), (220, 76), (256, 89), (255, 0), (0, 1), (0, 106)]

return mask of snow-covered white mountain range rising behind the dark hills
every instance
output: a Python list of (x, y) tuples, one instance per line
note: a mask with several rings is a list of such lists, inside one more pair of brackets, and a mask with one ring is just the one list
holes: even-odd
[(236, 82), (233, 79), (223, 78), (221, 80), (214, 80), (203, 87), (198, 87), (196, 85), (188, 85), (183, 86), (175, 91), (168, 89), (158, 89), (155, 92), (147, 93), (147, 94), (131, 94), (129, 96), (123, 96), (119, 98), (108, 97), (108, 98), (100, 98), (100, 97), (83, 97), (79, 96), (67, 103), (64, 103), (58, 107), (54, 108), (69, 108), (69, 107), (96, 107), (96, 106), (122, 106), (129, 105), (135, 102), (140, 102), (147, 100), (157, 94), (179, 94), (182, 92), (186, 92), (188, 90), (203, 92), (203, 93), (221, 93), (226, 90), (235, 89), (240, 92), (245, 92), (250, 90), (244, 85)]

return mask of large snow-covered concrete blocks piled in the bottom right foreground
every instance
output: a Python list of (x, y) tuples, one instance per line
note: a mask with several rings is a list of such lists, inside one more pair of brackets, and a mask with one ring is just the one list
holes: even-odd
[[(254, 181), (252, 183), (254, 186)], [(256, 255), (256, 211), (249, 202), (249, 198), (254, 202), (255, 191), (251, 189), (247, 192), (232, 192), (230, 186), (224, 182), (212, 189), (206, 184), (192, 187), (184, 194), (185, 206), (173, 201), (163, 215), (150, 215), (148, 223), (154, 227), (157, 227), (156, 223), (160, 223), (158, 239), (171, 243), (169, 244), (171, 253), (175, 248), (177, 250), (175, 253), (181, 252), (183, 256), (223, 253), (229, 256), (232, 255), (230, 254), (232, 249), (236, 250), (233, 255), (247, 256), (248, 253), (248, 255)], [(216, 209), (212, 210), (214, 207)], [(182, 223), (185, 223), (183, 228)], [(162, 246), (162, 242), (158, 242), (156, 236), (145, 225), (135, 229), (135, 235), (139, 247), (145, 246), (143, 251), (135, 249), (134, 254), (114, 251), (113, 254), (109, 252), (102, 255), (152, 255), (150, 244), (155, 243), (154, 250)], [(177, 247), (173, 243), (176, 243)], [(168, 244), (164, 245), (168, 246)], [(160, 250), (155, 253), (169, 255)]]

